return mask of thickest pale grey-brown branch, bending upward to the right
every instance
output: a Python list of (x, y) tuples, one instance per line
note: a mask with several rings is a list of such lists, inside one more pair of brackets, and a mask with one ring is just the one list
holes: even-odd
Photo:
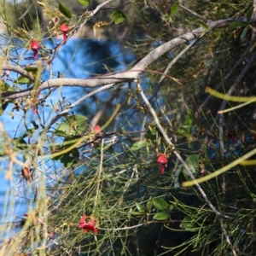
[[(234, 21), (247, 21), (246, 17), (240, 17), (236, 19), (226, 19), (226, 20), (216, 20), (208, 22), (209, 30), (216, 30), (218, 28), (225, 28), (230, 26)], [(252, 22), (256, 20), (253, 16)], [(38, 90), (49, 89), (58, 86), (80, 86), (80, 87), (96, 87), (107, 84), (117, 84), (121, 82), (133, 81), (138, 78), (139, 74), (142, 73), (150, 64), (158, 60), (160, 56), (166, 54), (171, 49), (175, 47), (189, 43), (196, 38), (200, 38), (201, 34), (205, 32), (202, 27), (196, 28), (192, 32), (187, 32), (178, 38), (174, 38), (166, 44), (162, 44), (159, 47), (153, 49), (148, 55), (146, 55), (141, 61), (137, 63), (134, 67), (127, 71), (120, 73), (109, 73), (100, 77), (90, 78), (90, 79), (49, 79), (39, 84)], [(20, 69), (19, 69), (20, 70)], [(32, 89), (21, 90), (19, 92), (5, 92), (2, 95), (3, 100), (16, 99), (19, 97), (29, 96), (32, 94)]]

